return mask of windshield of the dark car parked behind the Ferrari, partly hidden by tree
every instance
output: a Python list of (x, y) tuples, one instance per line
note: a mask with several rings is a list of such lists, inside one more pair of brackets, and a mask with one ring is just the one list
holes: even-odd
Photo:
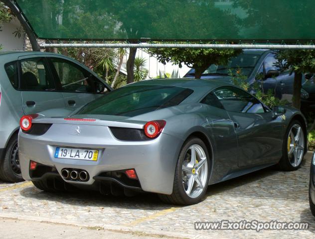
[[(231, 58), (226, 65), (212, 64), (207, 70), (202, 73), (202, 76), (207, 75), (235, 75), (238, 69), (241, 69), (242, 75), (249, 77), (261, 54), (241, 53), (240, 55)], [(187, 75), (194, 75), (194, 69), (191, 69)]]

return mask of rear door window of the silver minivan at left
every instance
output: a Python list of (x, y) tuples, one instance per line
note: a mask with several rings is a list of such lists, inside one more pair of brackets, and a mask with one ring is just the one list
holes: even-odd
[(21, 60), (21, 89), (46, 91), (55, 89), (44, 58)]

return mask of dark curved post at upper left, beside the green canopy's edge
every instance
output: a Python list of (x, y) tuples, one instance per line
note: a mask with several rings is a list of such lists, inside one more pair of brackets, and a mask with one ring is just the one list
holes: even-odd
[(22, 16), (21, 12), (17, 9), (14, 3), (11, 0), (1, 0), (7, 7), (10, 8), (11, 12), (16, 16), (20, 21), (25, 33), (28, 36), (29, 42), (32, 46), (33, 51), (40, 51), (40, 47), (37, 42), (37, 38), (33, 33), (32, 29), (29, 27), (28, 23), (25, 21), (25, 18)]

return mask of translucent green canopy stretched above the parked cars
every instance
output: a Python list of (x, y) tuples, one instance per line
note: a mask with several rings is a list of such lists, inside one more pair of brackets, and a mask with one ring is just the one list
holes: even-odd
[(315, 39), (314, 0), (16, 0), (39, 38)]

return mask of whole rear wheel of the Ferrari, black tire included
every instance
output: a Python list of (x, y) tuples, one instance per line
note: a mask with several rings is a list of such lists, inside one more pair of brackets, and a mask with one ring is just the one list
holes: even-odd
[[(194, 164), (192, 164), (192, 151), (195, 152)], [(202, 157), (200, 157), (200, 155)], [(201, 162), (202, 164), (198, 166), (198, 163)], [(210, 167), (210, 157), (205, 143), (197, 137), (188, 138), (184, 142), (177, 160), (173, 192), (171, 195), (159, 194), (159, 198), (167, 204), (174, 205), (192, 205), (199, 203), (202, 201), (207, 191)], [(191, 169), (191, 172), (188, 169)], [(190, 181), (192, 181), (192, 183), (190, 183)]]

